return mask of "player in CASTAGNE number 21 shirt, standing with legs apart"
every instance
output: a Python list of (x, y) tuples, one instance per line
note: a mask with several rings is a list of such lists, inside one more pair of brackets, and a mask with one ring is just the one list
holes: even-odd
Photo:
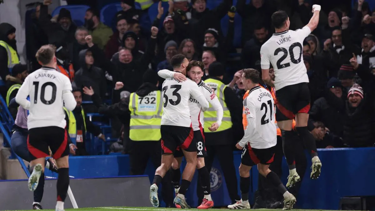
[[(271, 93), (259, 85), (259, 72), (255, 69), (244, 69), (242, 82), (245, 90), (250, 90), (243, 101), (248, 126), (245, 135), (237, 143), (238, 149), (243, 149), (240, 172), (241, 200), (229, 209), (250, 209), (249, 186), (251, 167), (257, 165), (258, 172), (275, 185), (284, 196), (284, 209), (293, 208), (296, 197), (287, 191), (279, 176), (269, 169), (275, 156), (276, 125), (275, 104)], [(247, 146), (246, 146), (247, 145)]]

